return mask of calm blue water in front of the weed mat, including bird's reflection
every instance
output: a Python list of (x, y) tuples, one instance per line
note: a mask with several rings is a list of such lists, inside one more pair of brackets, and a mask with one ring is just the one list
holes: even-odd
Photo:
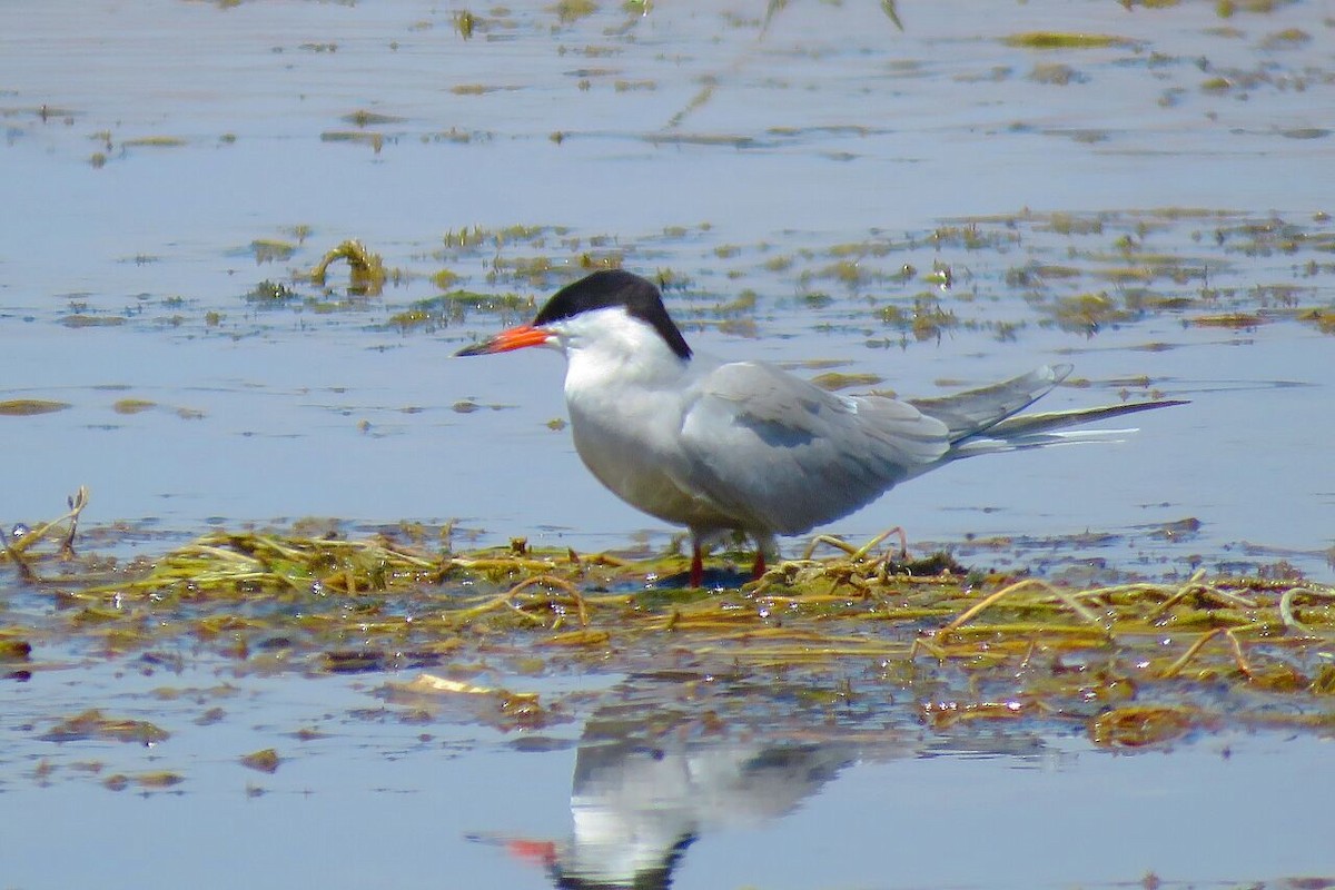
[[(7, 883), (1251, 886), (1331, 866), (1324, 797), (1300, 790), (1328, 773), (1330, 739), (1226, 731), (1119, 755), (1051, 730), (869, 719), (856, 702), (830, 722), (718, 726), (684, 701), (668, 718), (641, 711), (645, 678), (598, 681), (571, 705), (579, 719), (517, 735), (376, 686), (143, 662), (4, 685), (0, 793), (24, 817), (5, 833)], [(720, 707), (730, 693), (712, 695)], [(88, 701), (172, 737), (25, 738)], [(757, 709), (752, 694), (737, 703)], [(266, 747), (274, 773), (239, 762)], [(182, 782), (136, 785), (164, 770)], [(108, 790), (113, 775), (129, 786)], [(71, 857), (53, 826), (75, 809)]]

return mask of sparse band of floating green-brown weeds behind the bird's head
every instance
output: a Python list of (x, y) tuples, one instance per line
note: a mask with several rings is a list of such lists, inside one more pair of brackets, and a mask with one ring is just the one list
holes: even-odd
[[(873, 348), (960, 335), (1017, 342), (1053, 328), (1081, 338), (1144, 330), (1156, 348), (1189, 343), (1193, 328), (1335, 331), (1335, 231), (1326, 212), (1302, 219), (1177, 207), (1023, 211), (789, 250), (724, 240), (708, 221), (638, 235), (537, 223), (463, 226), (394, 258), (347, 239), (314, 266), (299, 264), (308, 234), (307, 226), (287, 227), (238, 251), (268, 267), (242, 295), (263, 315), (196, 307), (174, 295), (160, 300), (170, 310), (163, 318), (72, 300), (56, 320), (67, 327), (150, 320), (239, 338), (286, 311), (319, 316), (308, 323), (354, 320), (371, 332), (433, 334), (478, 315), (489, 324), (511, 323), (589, 271), (627, 267), (663, 287), (688, 330), (750, 338), (773, 334), (766, 326), (793, 306), (808, 330), (853, 332)], [(291, 263), (286, 274), (272, 268), (282, 263)], [(347, 272), (336, 287), (340, 264)], [(39, 403), (45, 404), (12, 400), (7, 412)]]

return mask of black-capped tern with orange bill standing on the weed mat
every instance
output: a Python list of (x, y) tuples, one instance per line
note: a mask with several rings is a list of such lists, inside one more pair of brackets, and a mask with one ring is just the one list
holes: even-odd
[(768, 362), (697, 354), (659, 288), (621, 268), (565, 286), (531, 323), (457, 355), (529, 347), (565, 355), (571, 436), (594, 478), (630, 506), (686, 527), (690, 587), (701, 587), (702, 550), (721, 535), (756, 542), (752, 576), (760, 578), (778, 536), (841, 519), (924, 472), (975, 455), (1105, 439), (1109, 431), (1065, 427), (1183, 404), (1020, 414), (1061, 383), (1069, 364), (948, 396), (840, 395)]

